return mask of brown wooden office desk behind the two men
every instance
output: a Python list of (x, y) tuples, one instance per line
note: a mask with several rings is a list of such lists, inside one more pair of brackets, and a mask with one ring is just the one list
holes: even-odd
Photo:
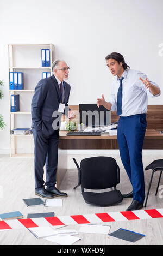
[[(57, 187), (67, 171), (67, 150), (116, 150), (117, 136), (104, 133), (101, 136), (67, 136), (66, 131), (60, 131)], [(163, 134), (159, 130), (147, 129), (143, 149), (163, 149)]]

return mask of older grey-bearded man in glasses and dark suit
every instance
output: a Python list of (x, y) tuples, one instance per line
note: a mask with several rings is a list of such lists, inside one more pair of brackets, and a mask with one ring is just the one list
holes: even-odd
[[(59, 126), (55, 125), (54, 128), (53, 123), (61, 118), (62, 113), (58, 111), (59, 108), (63, 109), (63, 112), (65, 111), (65, 106), (68, 108), (70, 85), (65, 80), (68, 79), (69, 69), (65, 61), (55, 61), (52, 65), (53, 75), (38, 82), (32, 99), (32, 128), (35, 144), (35, 194), (43, 198), (53, 198), (53, 196), (67, 197), (66, 193), (59, 191), (55, 187)], [(73, 112), (68, 110), (67, 116), (68, 118), (73, 118)], [(44, 184), (43, 167), (45, 164), (46, 182)]]

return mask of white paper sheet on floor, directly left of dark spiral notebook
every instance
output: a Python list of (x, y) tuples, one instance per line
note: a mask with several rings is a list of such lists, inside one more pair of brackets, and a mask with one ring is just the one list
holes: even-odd
[(110, 228), (111, 226), (109, 225), (82, 224), (82, 226), (79, 229), (79, 232), (108, 235)]

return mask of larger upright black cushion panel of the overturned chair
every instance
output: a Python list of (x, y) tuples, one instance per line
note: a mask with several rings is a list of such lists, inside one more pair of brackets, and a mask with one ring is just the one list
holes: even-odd
[(81, 186), (105, 189), (120, 183), (120, 169), (112, 157), (90, 157), (80, 162)]

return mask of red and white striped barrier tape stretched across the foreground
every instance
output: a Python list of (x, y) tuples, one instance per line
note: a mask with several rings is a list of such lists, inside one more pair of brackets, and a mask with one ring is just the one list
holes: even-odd
[(58, 225), (74, 225), (85, 223), (102, 223), (115, 221), (131, 221), (136, 219), (152, 219), (162, 218), (163, 208), (138, 210), (138, 211), (122, 211), (122, 212), (105, 212), (84, 215), (70, 215), (58, 217), (44, 217), (31, 219), (10, 219), (0, 221), (0, 230), (22, 229), (33, 227), (46, 227)]

